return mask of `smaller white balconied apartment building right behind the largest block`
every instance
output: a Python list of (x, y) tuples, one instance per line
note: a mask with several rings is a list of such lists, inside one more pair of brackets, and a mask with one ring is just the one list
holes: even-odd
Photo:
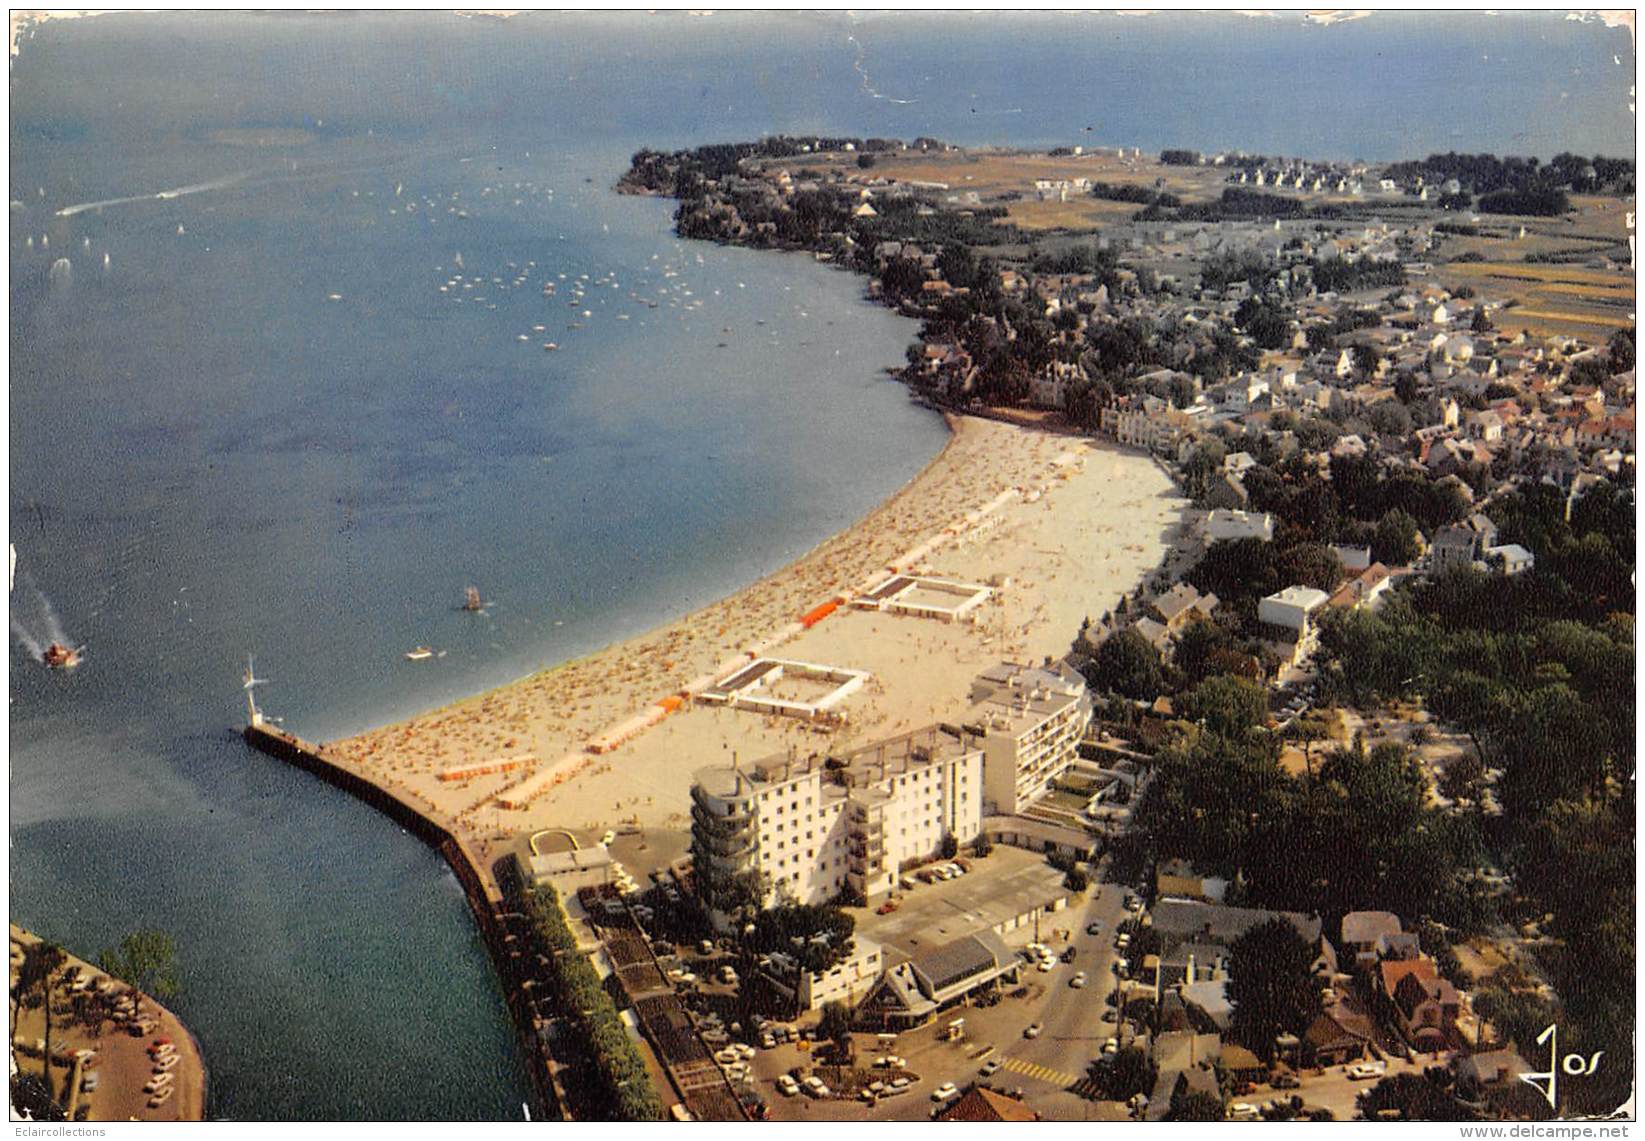
[(982, 741), (985, 809), (1022, 812), (1074, 763), (1091, 725), (1086, 682), (1066, 668), (1000, 663), (971, 684), (971, 700), (966, 730)]

